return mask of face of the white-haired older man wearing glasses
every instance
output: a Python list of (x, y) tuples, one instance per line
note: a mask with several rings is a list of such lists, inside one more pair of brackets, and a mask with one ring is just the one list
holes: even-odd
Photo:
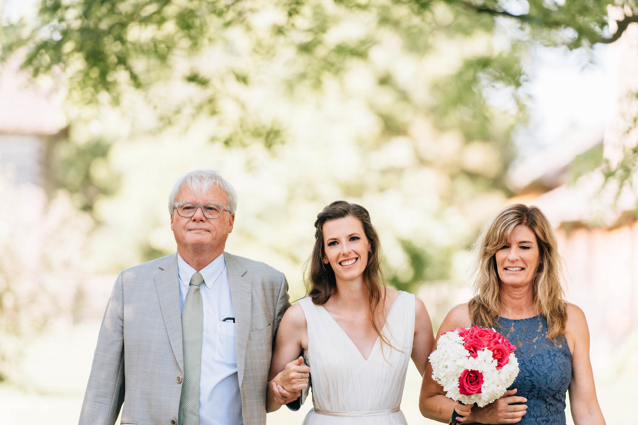
[[(196, 194), (191, 191), (188, 185), (184, 184), (177, 191), (175, 202), (193, 202), (197, 205), (204, 205), (214, 202), (221, 205), (228, 205), (226, 192), (218, 185), (212, 185), (208, 192)], [(170, 216), (170, 229), (175, 235), (177, 250), (190, 250), (209, 248), (223, 252), (226, 245), (228, 233), (233, 230), (235, 215), (230, 215), (227, 210), (223, 210), (219, 219), (207, 219), (202, 213), (202, 208), (197, 208), (193, 217), (181, 217), (177, 214), (177, 209)]]

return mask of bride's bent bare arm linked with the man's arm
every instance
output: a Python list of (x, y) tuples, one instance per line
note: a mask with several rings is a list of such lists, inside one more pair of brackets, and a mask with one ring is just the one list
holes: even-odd
[(304, 310), (295, 304), (286, 310), (275, 336), (275, 349), (268, 374), (266, 412), (274, 412), (281, 405), (297, 400), (300, 391), (308, 387), (310, 368), (303, 366), (303, 359), (299, 357), (304, 348), (308, 348), (308, 325)]

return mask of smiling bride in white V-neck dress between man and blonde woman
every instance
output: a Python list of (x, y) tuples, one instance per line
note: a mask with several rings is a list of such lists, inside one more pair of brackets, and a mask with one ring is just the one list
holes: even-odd
[(308, 296), (279, 324), (266, 410), (295, 400), (311, 380), (304, 425), (406, 424), (399, 405), (409, 357), (423, 375), (434, 341), (426, 306), (386, 287), (366, 208), (333, 202), (315, 228)]

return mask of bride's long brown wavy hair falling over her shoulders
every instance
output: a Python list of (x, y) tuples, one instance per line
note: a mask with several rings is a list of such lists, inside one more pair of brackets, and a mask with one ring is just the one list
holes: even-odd
[[(323, 224), (330, 220), (343, 219), (352, 216), (359, 219), (363, 226), (366, 238), (370, 243), (370, 251), (367, 256), (366, 269), (363, 272), (363, 282), (370, 293), (370, 317), (372, 328), (375, 329), (376, 335), (382, 342), (392, 346), (387, 338), (382, 335), (382, 328), (377, 317), (377, 309), (379, 305), (385, 306), (386, 281), (383, 271), (381, 270), (381, 245), (379, 243), (379, 235), (376, 233), (375, 227), (370, 220), (370, 214), (366, 208), (347, 203), (346, 201), (334, 201), (330, 205), (323, 208), (323, 211), (317, 215), (315, 221), (315, 246), (306, 261), (306, 270), (304, 271), (304, 284), (306, 285), (306, 293), (313, 300), (315, 305), (324, 305), (330, 299), (337, 289), (337, 283), (334, 278), (334, 271), (330, 264), (323, 264), (325, 256), (323, 241)], [(382, 315), (383, 316), (383, 315)], [(385, 319), (385, 317), (383, 317)]]

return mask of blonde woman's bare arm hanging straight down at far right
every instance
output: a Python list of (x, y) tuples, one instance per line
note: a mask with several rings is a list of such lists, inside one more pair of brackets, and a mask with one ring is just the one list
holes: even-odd
[(585, 315), (573, 304), (567, 305), (565, 336), (572, 351), (572, 382), (569, 404), (575, 425), (604, 425), (590, 361), (590, 331)]

